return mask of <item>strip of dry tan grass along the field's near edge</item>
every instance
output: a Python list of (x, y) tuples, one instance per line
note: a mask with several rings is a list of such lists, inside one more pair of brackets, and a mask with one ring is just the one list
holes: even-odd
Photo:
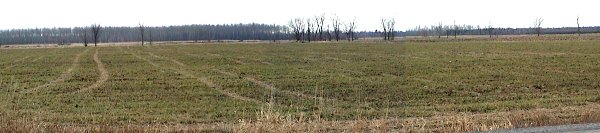
[(600, 121), (598, 104), (485, 114), (447, 114), (420, 118), (327, 121), (318, 115), (285, 115), (270, 108), (254, 121), (210, 124), (57, 125), (28, 120), (0, 120), (0, 132), (464, 132)]

